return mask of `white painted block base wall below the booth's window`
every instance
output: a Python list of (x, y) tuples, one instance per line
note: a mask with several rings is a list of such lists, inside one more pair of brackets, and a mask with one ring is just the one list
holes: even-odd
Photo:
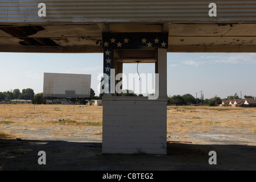
[(166, 154), (166, 100), (105, 97), (102, 152)]

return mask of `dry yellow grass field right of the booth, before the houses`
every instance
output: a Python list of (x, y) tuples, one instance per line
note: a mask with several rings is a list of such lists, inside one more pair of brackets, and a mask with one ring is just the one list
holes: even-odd
[(207, 132), (218, 128), (229, 133), (256, 133), (256, 108), (168, 106), (167, 124), (169, 132)]

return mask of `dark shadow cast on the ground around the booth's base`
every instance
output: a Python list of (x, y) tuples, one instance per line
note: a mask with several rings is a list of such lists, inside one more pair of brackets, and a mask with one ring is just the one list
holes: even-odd
[[(0, 139), (0, 169), (166, 171), (256, 170), (256, 146), (167, 143), (167, 155), (101, 154), (102, 143), (61, 140)], [(46, 165), (39, 165), (39, 151), (46, 152)], [(210, 165), (209, 151), (216, 151), (217, 164)]]

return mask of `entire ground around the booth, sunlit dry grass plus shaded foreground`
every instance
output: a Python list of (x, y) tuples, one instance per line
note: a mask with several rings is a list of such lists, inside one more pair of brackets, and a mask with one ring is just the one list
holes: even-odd
[(102, 107), (8, 107), (0, 110), (0, 171), (256, 170), (256, 108), (167, 107), (167, 155), (125, 155), (101, 153)]

